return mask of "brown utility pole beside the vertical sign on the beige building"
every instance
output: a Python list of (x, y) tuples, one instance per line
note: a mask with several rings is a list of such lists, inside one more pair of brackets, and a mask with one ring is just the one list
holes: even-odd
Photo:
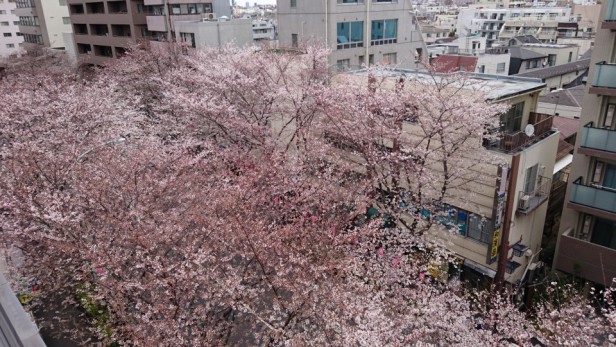
[(503, 232), (501, 235), (500, 251), (496, 267), (494, 282), (496, 290), (502, 291), (505, 284), (505, 271), (509, 262), (509, 231), (511, 229), (511, 216), (515, 210), (514, 198), (516, 191), (516, 181), (518, 180), (518, 169), (520, 167), (520, 153), (516, 153), (511, 158), (511, 173), (509, 175), (509, 185), (507, 186), (507, 204), (505, 205), (505, 218), (503, 221)]

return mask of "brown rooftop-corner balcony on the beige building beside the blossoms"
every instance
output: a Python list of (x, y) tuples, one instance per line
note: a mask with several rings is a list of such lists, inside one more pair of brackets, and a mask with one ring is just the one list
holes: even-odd
[(552, 115), (531, 112), (528, 124), (532, 124), (535, 128), (532, 136), (527, 136), (524, 131), (511, 134), (506, 133), (502, 134), (502, 136), (496, 140), (484, 140), (484, 147), (508, 154), (521, 151), (527, 146), (531, 146), (551, 134), (553, 120), (554, 117)]

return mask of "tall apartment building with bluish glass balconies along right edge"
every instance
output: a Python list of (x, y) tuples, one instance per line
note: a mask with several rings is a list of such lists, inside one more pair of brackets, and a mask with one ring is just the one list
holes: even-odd
[(601, 5), (554, 268), (604, 286), (616, 277), (616, 0)]

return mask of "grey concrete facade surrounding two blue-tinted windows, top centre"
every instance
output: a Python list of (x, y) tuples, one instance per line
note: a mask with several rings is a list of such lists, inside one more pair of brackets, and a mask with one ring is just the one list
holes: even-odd
[[(374, 63), (380, 64), (384, 54), (395, 53), (399, 67), (414, 68), (416, 49), (420, 48), (423, 56), (427, 50), (410, 10), (407, 1), (380, 4), (337, 4), (330, 1), (327, 8), (322, 1), (298, 1), (297, 8), (291, 8), (289, 1), (280, 1), (278, 39), (281, 47), (292, 46), (293, 34), (297, 35), (300, 44), (309, 41), (325, 44), (332, 50), (330, 65), (348, 59), (351, 66), (359, 67), (362, 59), (368, 63), (370, 55), (373, 55)], [(398, 19), (397, 43), (370, 46), (371, 22), (381, 19)], [(338, 49), (336, 24), (353, 21), (363, 22), (363, 47)]]

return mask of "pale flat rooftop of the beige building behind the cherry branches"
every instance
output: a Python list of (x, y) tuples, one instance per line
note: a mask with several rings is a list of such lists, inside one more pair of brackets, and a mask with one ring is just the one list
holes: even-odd
[[(402, 76), (408, 80), (417, 80), (422, 83), (431, 83), (434, 79), (443, 79), (451, 75), (438, 73), (429, 74), (427, 72), (411, 69), (383, 69), (375, 70), (373, 73), (379, 77), (391, 76), (391, 78), (397, 78)], [(348, 72), (348, 74), (368, 76), (368, 70), (361, 69)], [(458, 74), (464, 74), (466, 77), (462, 88), (480, 90), (485, 94), (486, 100), (497, 101), (515, 95), (540, 90), (545, 87), (545, 83), (543, 83), (539, 78), (501, 76), (468, 72), (461, 72)]]

